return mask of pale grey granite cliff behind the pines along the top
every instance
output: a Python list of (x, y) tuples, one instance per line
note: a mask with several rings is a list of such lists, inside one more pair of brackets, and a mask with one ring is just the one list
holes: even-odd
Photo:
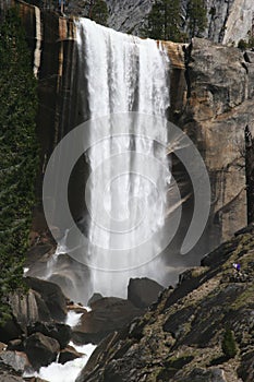
[[(140, 34), (145, 15), (149, 13), (153, 1), (106, 0), (109, 8), (109, 26), (121, 32)], [(186, 7), (181, 0), (183, 29), (188, 32)], [(207, 28), (204, 37), (215, 43), (237, 45), (253, 32), (254, 3), (252, 0), (206, 0)]]

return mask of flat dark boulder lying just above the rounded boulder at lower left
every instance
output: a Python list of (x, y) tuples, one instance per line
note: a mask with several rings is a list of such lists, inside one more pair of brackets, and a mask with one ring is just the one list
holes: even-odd
[(34, 333), (43, 333), (47, 337), (57, 339), (61, 349), (66, 347), (71, 341), (71, 326), (58, 322), (36, 322), (32, 326), (27, 327), (28, 335)]

